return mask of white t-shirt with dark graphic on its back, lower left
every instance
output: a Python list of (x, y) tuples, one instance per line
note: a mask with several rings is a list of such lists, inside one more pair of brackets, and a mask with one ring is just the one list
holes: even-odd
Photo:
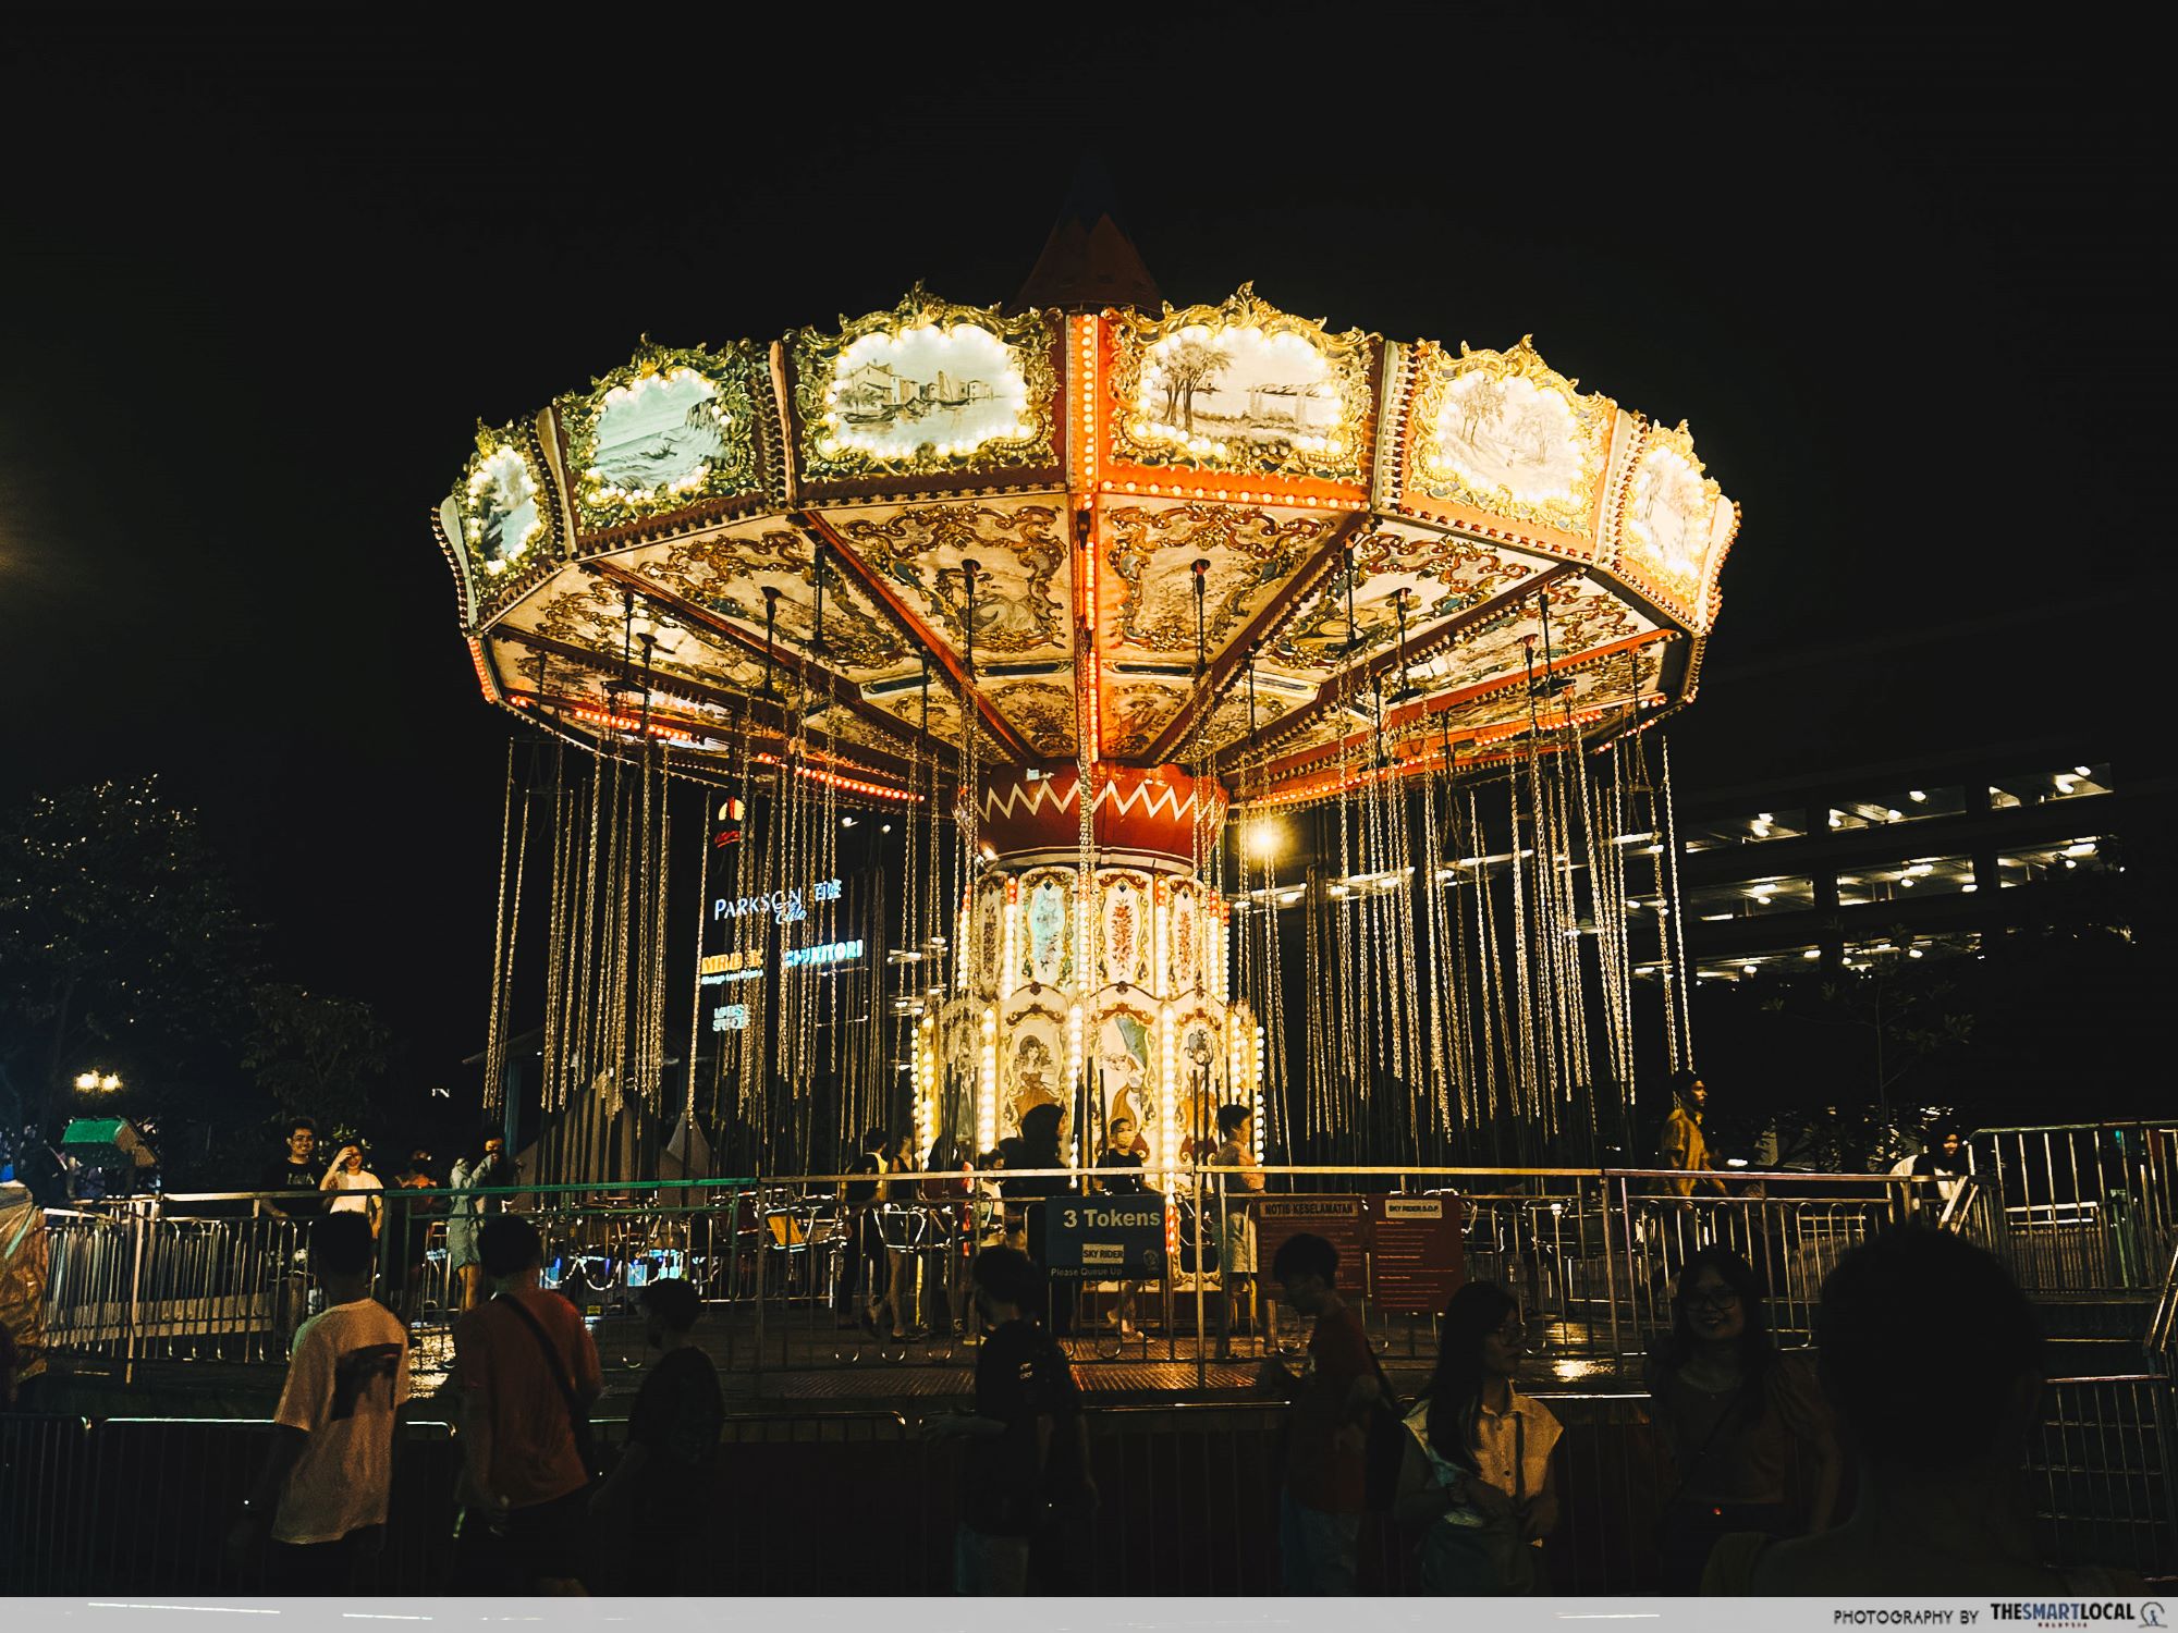
[(277, 1542), (340, 1542), (386, 1524), (407, 1328), (370, 1298), (303, 1322), (272, 1422), (309, 1435), (272, 1515)]

